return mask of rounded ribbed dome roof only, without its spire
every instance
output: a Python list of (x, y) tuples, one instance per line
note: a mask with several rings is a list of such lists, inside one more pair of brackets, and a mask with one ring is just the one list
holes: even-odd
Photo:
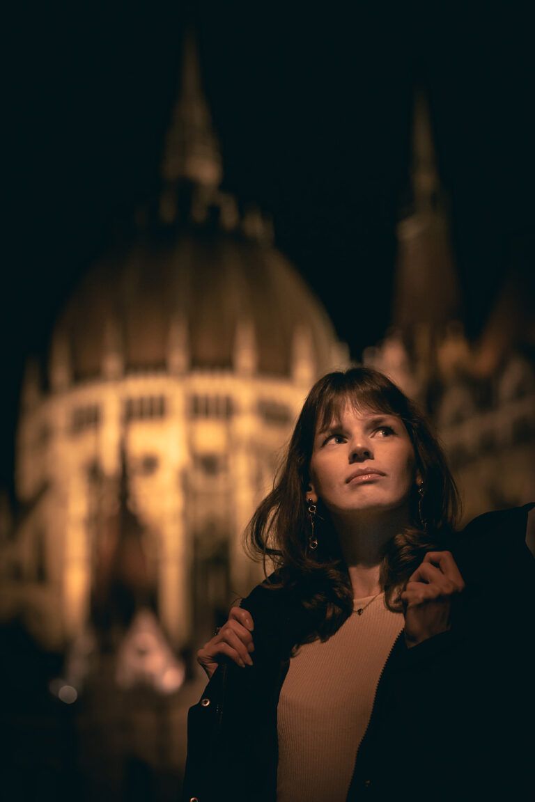
[(97, 265), (71, 298), (56, 333), (72, 379), (99, 375), (110, 351), (124, 373), (164, 369), (173, 347), (188, 354), (183, 370), (225, 370), (240, 337), (259, 374), (290, 375), (300, 338), (316, 374), (336, 362), (325, 310), (272, 246), (202, 227), (164, 234)]

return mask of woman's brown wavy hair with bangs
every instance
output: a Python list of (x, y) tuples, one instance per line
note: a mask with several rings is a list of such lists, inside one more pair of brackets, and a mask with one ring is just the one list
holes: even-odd
[(314, 632), (307, 640), (329, 638), (353, 609), (351, 581), (329, 513), (318, 500), (318, 548), (311, 551), (306, 508), (315, 433), (337, 419), (347, 402), (355, 409), (396, 415), (403, 421), (424, 480), (420, 507), (416, 485), (412, 491), (411, 525), (396, 534), (383, 552), (380, 580), (389, 609), (402, 609), (399, 593), (424, 554), (447, 548), (460, 508), (455, 481), (427, 419), (391, 379), (369, 367), (353, 367), (318, 379), (295, 424), (274, 488), (245, 532), (249, 553), (263, 559), (264, 568), (268, 559), (276, 568), (266, 585), (297, 593), (310, 613)]

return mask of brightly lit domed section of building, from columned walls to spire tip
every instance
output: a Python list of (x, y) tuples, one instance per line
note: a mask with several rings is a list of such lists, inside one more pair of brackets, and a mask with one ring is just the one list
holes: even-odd
[(140, 606), (175, 649), (209, 635), (261, 574), (241, 534), (306, 392), (347, 363), (221, 174), (188, 38), (158, 204), (67, 303), (47, 375), (27, 366), (0, 614), (47, 647)]

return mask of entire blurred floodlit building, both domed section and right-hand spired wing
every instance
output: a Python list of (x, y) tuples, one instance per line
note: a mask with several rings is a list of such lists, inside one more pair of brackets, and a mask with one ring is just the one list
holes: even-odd
[[(435, 419), (465, 517), (535, 497), (535, 375), (507, 315), (468, 342), (424, 100), (398, 228), (393, 327), (363, 354)], [(158, 202), (134, 244), (87, 274), (47, 375), (27, 366), (20, 502), (0, 550), (0, 615), (45, 646), (88, 622), (155, 614), (175, 649), (213, 631), (261, 575), (241, 533), (270, 488), (314, 379), (347, 354), (270, 224), (221, 192), (193, 39)], [(510, 317), (510, 316), (509, 316)], [(507, 465), (507, 470), (504, 470)], [(158, 639), (158, 634), (154, 638)]]

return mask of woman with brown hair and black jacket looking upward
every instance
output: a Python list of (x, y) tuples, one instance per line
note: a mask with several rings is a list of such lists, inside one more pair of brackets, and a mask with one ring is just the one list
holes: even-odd
[(369, 368), (320, 379), (249, 525), (276, 571), (198, 653), (210, 682), (184, 800), (511, 798), (531, 506), (456, 534), (456, 487), (415, 404)]

